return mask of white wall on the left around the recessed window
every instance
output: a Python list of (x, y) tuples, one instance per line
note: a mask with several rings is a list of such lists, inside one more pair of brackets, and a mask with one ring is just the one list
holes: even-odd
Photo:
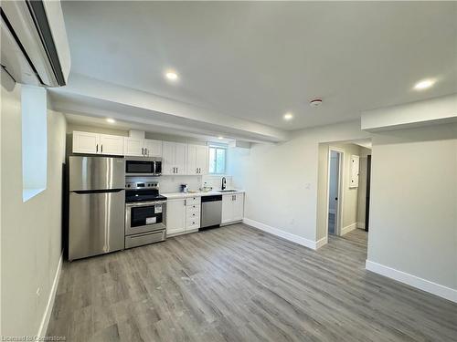
[(48, 111), (47, 189), (23, 202), (20, 85), (15, 86), (3, 70), (1, 75), (1, 334), (35, 336), (61, 253), (66, 121)]

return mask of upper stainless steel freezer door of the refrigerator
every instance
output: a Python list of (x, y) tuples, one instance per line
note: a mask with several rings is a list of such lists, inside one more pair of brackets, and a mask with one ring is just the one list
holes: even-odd
[(125, 188), (125, 161), (111, 157), (69, 157), (69, 191)]

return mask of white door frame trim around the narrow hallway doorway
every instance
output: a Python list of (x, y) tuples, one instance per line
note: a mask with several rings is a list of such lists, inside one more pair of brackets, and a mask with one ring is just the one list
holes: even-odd
[(328, 147), (327, 156), (327, 195), (326, 195), (326, 212), (325, 212), (325, 236), (328, 241), (328, 211), (330, 209), (330, 163), (332, 161), (332, 151), (339, 153), (338, 163), (338, 202), (336, 203), (336, 220), (335, 220), (335, 235), (341, 235), (341, 224), (343, 223), (343, 201), (344, 201), (344, 174), (345, 174), (345, 150), (337, 147)]

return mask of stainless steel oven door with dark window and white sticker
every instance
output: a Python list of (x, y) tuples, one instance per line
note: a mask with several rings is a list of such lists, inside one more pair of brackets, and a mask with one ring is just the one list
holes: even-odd
[(125, 235), (163, 230), (166, 201), (125, 204)]

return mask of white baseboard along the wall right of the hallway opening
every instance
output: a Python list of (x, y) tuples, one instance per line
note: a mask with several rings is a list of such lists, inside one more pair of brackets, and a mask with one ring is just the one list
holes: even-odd
[(378, 275), (387, 276), (388, 278), (397, 280), (400, 283), (419, 288), (422, 291), (441, 296), (442, 298), (457, 303), (457, 290), (451, 287), (436, 284), (430, 282), (430, 280), (420, 278), (419, 276), (409, 275), (408, 273), (396, 270), (395, 268), (385, 266), (384, 264), (377, 264), (369, 260), (367, 260), (365, 268), (368, 271), (377, 273)]

